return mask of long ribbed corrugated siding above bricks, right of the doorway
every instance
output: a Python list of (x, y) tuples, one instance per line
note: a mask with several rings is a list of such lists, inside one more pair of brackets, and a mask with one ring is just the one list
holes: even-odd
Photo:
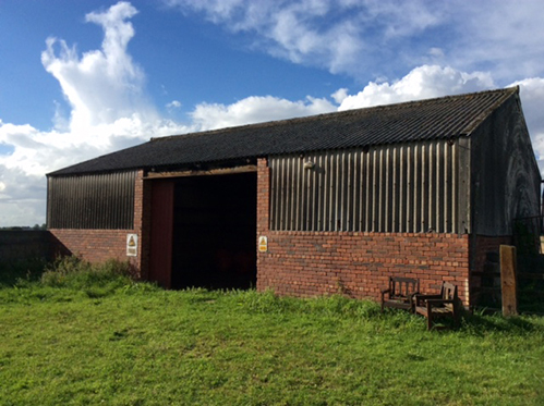
[(437, 140), (271, 157), (270, 229), (458, 233), (458, 153)]

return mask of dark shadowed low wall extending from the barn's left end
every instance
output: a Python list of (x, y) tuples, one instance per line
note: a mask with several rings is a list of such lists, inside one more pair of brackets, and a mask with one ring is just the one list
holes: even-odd
[(48, 231), (0, 231), (0, 262), (38, 258), (52, 259), (52, 238)]

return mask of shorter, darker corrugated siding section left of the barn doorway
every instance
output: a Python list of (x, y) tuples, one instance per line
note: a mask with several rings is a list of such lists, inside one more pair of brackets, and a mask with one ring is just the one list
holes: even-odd
[(48, 179), (49, 229), (131, 230), (136, 171)]

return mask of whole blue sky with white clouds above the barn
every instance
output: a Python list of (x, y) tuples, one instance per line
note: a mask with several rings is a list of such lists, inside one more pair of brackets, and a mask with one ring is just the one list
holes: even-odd
[(544, 173), (542, 0), (0, 0), (0, 227), (152, 137), (520, 86)]

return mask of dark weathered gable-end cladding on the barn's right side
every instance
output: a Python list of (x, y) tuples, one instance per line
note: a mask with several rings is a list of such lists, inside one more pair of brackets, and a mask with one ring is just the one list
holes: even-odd
[(470, 161), (474, 234), (511, 235), (513, 219), (540, 213), (541, 174), (518, 96), (474, 131)]

